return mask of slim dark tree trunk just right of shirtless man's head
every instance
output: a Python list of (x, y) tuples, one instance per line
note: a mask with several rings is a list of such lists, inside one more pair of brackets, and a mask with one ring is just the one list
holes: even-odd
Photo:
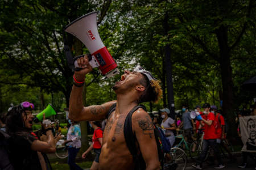
[[(168, 25), (168, 13), (165, 14), (163, 20), (163, 28), (164, 28), (164, 35), (168, 36), (168, 31), (170, 27)], [(171, 48), (170, 44), (167, 44), (164, 47), (165, 53), (165, 63), (166, 63), (166, 82), (167, 82), (167, 101), (168, 101), (168, 108), (170, 109), (170, 117), (175, 118), (175, 110), (174, 110), (174, 90), (172, 84), (172, 63), (171, 63)]]

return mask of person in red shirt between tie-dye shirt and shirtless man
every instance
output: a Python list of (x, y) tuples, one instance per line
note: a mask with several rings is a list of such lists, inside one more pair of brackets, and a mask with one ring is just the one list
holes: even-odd
[(94, 158), (91, 170), (98, 169), (98, 159), (100, 158), (101, 154), (101, 146), (102, 146), (102, 137), (103, 131), (101, 129), (101, 122), (100, 121), (90, 121), (89, 125), (91, 128), (94, 129), (93, 137), (92, 137), (92, 145), (82, 154), (82, 158), (85, 159), (86, 155), (93, 149), (96, 156)]

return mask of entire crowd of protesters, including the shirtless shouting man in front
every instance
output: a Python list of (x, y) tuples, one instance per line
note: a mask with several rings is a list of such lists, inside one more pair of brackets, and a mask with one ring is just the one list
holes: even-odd
[[(87, 56), (77, 59), (78, 65), (83, 68), (75, 71), (73, 87), (69, 100), (69, 119), (71, 126), (68, 129), (67, 140), (63, 145), (68, 146), (68, 164), (70, 169), (81, 169), (75, 163), (77, 153), (81, 148), (80, 121), (90, 121), (94, 129), (93, 143), (82, 154), (82, 158), (92, 149), (96, 153), (91, 169), (160, 169), (161, 158), (158, 139), (154, 124), (163, 129), (171, 146), (175, 145), (175, 134), (183, 129), (186, 140), (193, 139), (199, 129), (204, 129), (204, 145), (200, 159), (193, 167), (202, 169), (203, 160), (209, 146), (214, 150), (218, 166), (224, 168), (217, 143), (225, 139), (225, 119), (217, 107), (205, 103), (196, 106), (196, 117), (193, 120), (189, 109), (183, 106), (181, 114), (170, 115), (168, 108), (160, 109), (159, 117), (151, 120), (146, 109), (139, 104), (147, 101), (158, 101), (162, 90), (158, 80), (141, 66), (133, 71), (124, 71), (119, 82), (115, 82), (113, 90), (117, 100), (101, 105), (84, 107), (82, 104), (82, 88), (85, 75), (92, 71)], [(51, 169), (47, 158), (48, 153), (56, 151), (56, 142), (61, 138), (59, 131), (52, 128), (52, 122), (43, 118), (41, 133), (32, 131), (31, 114), (34, 105), (23, 102), (11, 107), (6, 115), (5, 127), (1, 132), (1, 139), (7, 139), (9, 150), (6, 164), (13, 169)], [(106, 122), (101, 128), (101, 121)], [(2, 131), (2, 130), (1, 130)], [(126, 133), (124, 133), (124, 131)], [(5, 143), (6, 144), (6, 143)], [(148, 149), (150, 148), (150, 149)], [(0, 154), (6, 151), (1, 147)], [(5, 152), (5, 153), (4, 153)]]

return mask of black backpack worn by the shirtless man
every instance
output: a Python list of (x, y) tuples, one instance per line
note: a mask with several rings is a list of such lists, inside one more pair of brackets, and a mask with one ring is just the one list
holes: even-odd
[[(116, 103), (112, 105), (109, 109), (108, 117), (112, 112), (115, 111)], [(133, 113), (137, 111), (137, 109), (142, 108), (144, 111), (147, 112), (146, 108), (143, 105), (137, 105), (131, 111), (127, 114), (125, 119), (125, 124), (123, 126), (123, 134), (125, 135), (125, 141), (126, 145), (131, 153), (133, 155), (133, 160), (135, 164), (135, 169), (146, 169), (146, 163), (144, 162), (144, 159), (142, 158), (142, 154), (140, 153), (138, 155), (137, 146), (135, 141), (136, 136), (133, 134), (132, 130), (132, 124), (131, 124), (131, 116), (133, 116)], [(108, 118), (107, 117), (107, 118)], [(162, 131), (162, 130), (161, 130)], [(155, 127), (154, 125), (154, 135), (155, 135), (155, 141), (158, 148), (158, 159), (161, 164), (161, 167), (163, 169), (163, 163), (164, 163), (164, 152), (169, 152), (171, 149), (170, 142), (165, 138), (163, 131), (161, 132), (160, 128)], [(164, 148), (165, 147), (165, 148)]]

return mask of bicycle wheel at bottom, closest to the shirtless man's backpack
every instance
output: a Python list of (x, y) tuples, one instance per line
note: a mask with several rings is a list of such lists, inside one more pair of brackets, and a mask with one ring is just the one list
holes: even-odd
[(168, 153), (170, 159), (164, 162), (164, 170), (176, 169), (184, 170), (187, 166), (187, 155), (181, 148), (173, 147)]

